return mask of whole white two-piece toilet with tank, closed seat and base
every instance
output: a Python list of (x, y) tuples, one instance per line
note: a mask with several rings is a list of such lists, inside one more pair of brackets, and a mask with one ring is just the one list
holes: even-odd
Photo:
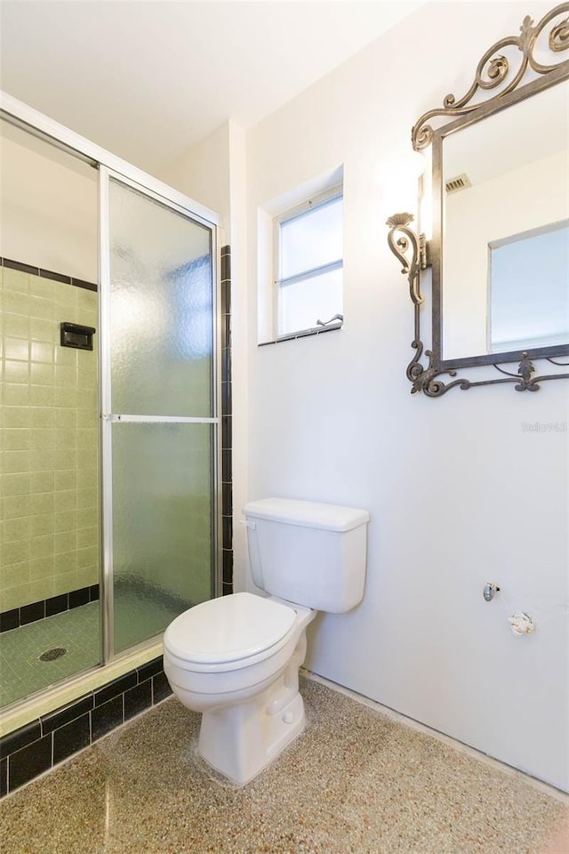
[(369, 513), (285, 498), (244, 507), (254, 583), (189, 608), (164, 633), (164, 673), (202, 712), (198, 752), (247, 783), (304, 726), (299, 667), (317, 610), (349, 611), (364, 596)]

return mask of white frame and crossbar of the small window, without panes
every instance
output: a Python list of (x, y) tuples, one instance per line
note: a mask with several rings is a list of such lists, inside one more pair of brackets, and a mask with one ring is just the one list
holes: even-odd
[[(294, 276), (289, 276), (285, 278), (281, 278), (280, 276), (280, 267), (281, 267), (281, 257), (282, 257), (282, 248), (281, 248), (281, 226), (284, 222), (290, 222), (291, 220), (297, 219), (297, 217), (306, 216), (310, 211), (316, 210), (318, 207), (322, 205), (329, 204), (334, 199), (341, 198), (343, 204), (344, 197), (344, 188), (343, 184), (335, 184), (333, 187), (326, 189), (325, 192), (319, 193), (317, 196), (312, 196), (308, 199), (305, 199), (301, 202), (300, 205), (295, 205), (292, 208), (284, 211), (283, 214), (279, 214), (273, 220), (273, 305), (274, 305), (274, 322), (275, 322), (275, 340), (276, 341), (286, 341), (289, 338), (300, 338), (306, 335), (316, 335), (323, 332), (328, 332), (332, 329), (340, 329), (343, 324), (343, 313), (337, 318), (317, 318), (318, 320), (322, 320), (321, 325), (310, 326), (307, 329), (298, 329), (290, 333), (280, 334), (280, 316), (281, 316), (281, 286), (283, 283), (292, 284), (294, 281), (298, 281), (301, 278), (311, 278), (322, 275), (327, 272), (332, 272), (333, 270), (343, 270), (344, 266), (344, 258), (343, 258), (343, 246), (342, 246), (342, 256), (339, 259), (336, 259), (333, 262), (328, 264), (323, 264), (320, 267), (315, 267), (310, 270), (301, 270), (301, 272), (296, 273)], [(343, 282), (342, 282), (343, 284)]]

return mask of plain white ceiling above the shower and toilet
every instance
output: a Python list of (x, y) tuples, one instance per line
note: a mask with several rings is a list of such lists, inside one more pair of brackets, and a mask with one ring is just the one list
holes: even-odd
[(2, 0), (1, 87), (148, 172), (250, 127), (420, 2)]

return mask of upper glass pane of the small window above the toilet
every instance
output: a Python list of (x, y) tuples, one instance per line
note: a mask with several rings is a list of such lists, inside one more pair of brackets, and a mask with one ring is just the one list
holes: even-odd
[(280, 278), (314, 270), (342, 257), (342, 197), (281, 223)]

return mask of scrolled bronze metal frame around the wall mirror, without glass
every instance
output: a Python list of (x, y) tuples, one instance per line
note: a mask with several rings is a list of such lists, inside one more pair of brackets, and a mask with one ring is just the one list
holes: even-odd
[[(539, 347), (528, 350), (511, 350), (505, 353), (491, 353), (472, 356), (463, 359), (441, 358), (442, 310), (441, 310), (441, 253), (442, 253), (442, 147), (443, 140), (457, 130), (473, 125), (482, 119), (493, 115), (501, 109), (510, 107), (518, 101), (524, 101), (535, 94), (541, 93), (552, 85), (569, 79), (569, 60), (554, 65), (541, 65), (535, 59), (533, 50), (538, 38), (548, 24), (566, 13), (565, 20), (557, 21), (549, 32), (549, 50), (563, 52), (569, 50), (569, 3), (562, 3), (551, 9), (533, 26), (533, 20), (525, 17), (520, 27), (520, 36), (506, 36), (493, 44), (478, 62), (476, 77), (469, 91), (458, 101), (453, 94), (445, 97), (444, 106), (431, 109), (425, 113), (413, 126), (412, 142), (415, 151), (427, 148), (432, 144), (433, 152), (433, 239), (427, 243), (424, 235), (416, 234), (410, 223), (412, 214), (394, 214), (389, 217), (388, 243), (389, 248), (402, 263), (402, 272), (406, 275), (414, 310), (414, 338), (411, 346), (415, 350), (413, 359), (407, 366), (407, 378), (413, 383), (412, 394), (423, 391), (430, 398), (445, 394), (454, 386), (463, 391), (477, 385), (495, 385), (498, 383), (516, 383), (516, 391), (538, 391), (540, 384), (546, 380), (567, 379), (569, 372), (542, 374), (534, 376), (533, 359), (546, 359), (550, 364), (569, 367), (569, 361), (558, 361), (559, 357), (569, 356), (569, 344), (558, 344), (552, 347)], [(515, 46), (522, 53), (522, 60), (515, 75), (509, 80), (510, 69), (508, 59), (499, 53), (502, 48)], [(539, 77), (531, 83), (517, 86), (531, 68)], [(469, 104), (478, 90), (490, 91), (500, 88), (486, 101)], [(457, 117), (446, 125), (433, 130), (430, 125), (435, 117)], [(432, 349), (424, 350), (421, 342), (421, 305), (425, 302), (421, 294), (421, 270), (432, 266)], [(423, 354), (429, 359), (427, 367), (421, 364)], [(517, 373), (506, 371), (501, 364), (518, 361)], [(439, 379), (440, 375), (455, 377), (458, 368), (492, 366), (501, 373), (495, 379), (469, 380), (466, 378), (453, 379), (450, 383)]]

